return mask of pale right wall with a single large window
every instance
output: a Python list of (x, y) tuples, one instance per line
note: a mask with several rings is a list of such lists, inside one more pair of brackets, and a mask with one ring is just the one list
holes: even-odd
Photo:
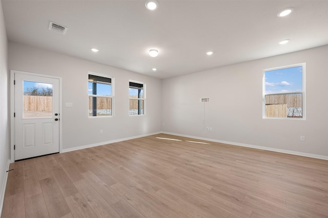
[[(250, 51), (251, 52), (251, 51)], [(163, 131), (328, 158), (328, 46), (162, 82)], [(306, 62), (306, 120), (262, 118), (262, 69)], [(206, 127), (203, 130), (203, 103)], [(300, 141), (305, 136), (306, 141)]]

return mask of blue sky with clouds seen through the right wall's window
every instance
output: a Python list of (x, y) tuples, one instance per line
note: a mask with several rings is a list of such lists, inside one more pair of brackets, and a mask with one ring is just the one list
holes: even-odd
[(265, 71), (265, 94), (302, 91), (302, 66)]

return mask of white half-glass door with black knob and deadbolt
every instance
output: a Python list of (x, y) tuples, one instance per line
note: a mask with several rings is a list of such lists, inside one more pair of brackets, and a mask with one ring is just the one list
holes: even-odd
[(59, 152), (59, 79), (14, 75), (15, 160)]

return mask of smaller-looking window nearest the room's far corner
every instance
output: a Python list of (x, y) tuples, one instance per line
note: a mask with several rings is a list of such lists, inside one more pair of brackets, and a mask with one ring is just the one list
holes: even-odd
[(129, 82), (129, 114), (145, 114), (145, 84)]

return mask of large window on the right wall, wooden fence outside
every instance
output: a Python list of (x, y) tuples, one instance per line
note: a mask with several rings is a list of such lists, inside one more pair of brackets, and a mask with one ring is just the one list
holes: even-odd
[(305, 63), (263, 70), (263, 118), (305, 119)]

